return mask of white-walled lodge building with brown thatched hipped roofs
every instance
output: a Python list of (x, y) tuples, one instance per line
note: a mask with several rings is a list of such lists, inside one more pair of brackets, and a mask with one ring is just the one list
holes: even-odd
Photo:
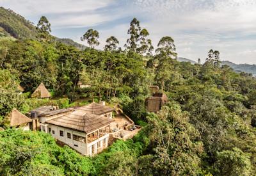
[[(113, 108), (93, 102), (86, 106), (52, 109), (44, 107), (31, 111), (40, 121), (41, 131), (74, 148), (93, 156), (108, 147)], [(32, 118), (32, 119), (33, 119)]]

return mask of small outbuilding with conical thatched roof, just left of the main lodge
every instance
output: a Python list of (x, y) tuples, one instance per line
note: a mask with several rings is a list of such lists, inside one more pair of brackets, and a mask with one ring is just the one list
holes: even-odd
[(31, 122), (31, 118), (23, 115), (15, 108), (10, 113), (10, 127), (20, 127), (24, 130), (29, 130), (29, 123)]

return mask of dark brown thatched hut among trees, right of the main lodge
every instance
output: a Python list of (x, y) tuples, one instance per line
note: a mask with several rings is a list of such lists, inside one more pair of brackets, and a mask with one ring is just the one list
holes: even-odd
[(168, 97), (161, 92), (156, 92), (152, 97), (146, 99), (146, 108), (149, 112), (157, 112), (168, 101)]

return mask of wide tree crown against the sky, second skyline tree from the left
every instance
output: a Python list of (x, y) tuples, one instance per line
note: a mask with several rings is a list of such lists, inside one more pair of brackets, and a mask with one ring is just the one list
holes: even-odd
[(90, 45), (91, 48), (95, 48), (95, 46), (99, 45), (99, 32), (93, 29), (88, 29), (86, 33), (84, 33), (81, 40), (87, 40), (87, 43)]

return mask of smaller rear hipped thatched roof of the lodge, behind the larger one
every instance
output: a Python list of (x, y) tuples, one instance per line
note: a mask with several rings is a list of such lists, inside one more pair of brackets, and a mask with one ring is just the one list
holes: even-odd
[(105, 106), (96, 102), (92, 102), (91, 104), (88, 104), (86, 106), (76, 107), (75, 109), (81, 110), (84, 113), (90, 113), (93, 115), (103, 115), (105, 113), (114, 111), (113, 108), (110, 108), (109, 106)]

